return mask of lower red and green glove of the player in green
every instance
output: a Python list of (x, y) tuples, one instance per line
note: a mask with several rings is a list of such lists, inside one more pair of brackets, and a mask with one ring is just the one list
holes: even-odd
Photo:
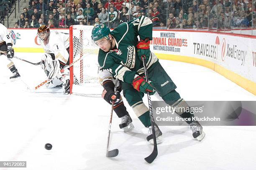
[(153, 95), (156, 91), (154, 87), (146, 82), (142, 77), (138, 76), (133, 80), (133, 88), (138, 90), (139, 92), (147, 93), (149, 92), (150, 95)]

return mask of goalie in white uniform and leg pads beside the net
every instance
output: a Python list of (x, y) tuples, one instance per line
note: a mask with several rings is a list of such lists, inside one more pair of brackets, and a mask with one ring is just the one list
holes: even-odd
[(41, 67), (49, 80), (48, 88), (63, 85), (64, 94), (69, 94), (69, 70), (61, 73), (61, 69), (69, 65), (69, 34), (51, 31), (46, 25), (38, 28), (37, 35), (44, 48)]

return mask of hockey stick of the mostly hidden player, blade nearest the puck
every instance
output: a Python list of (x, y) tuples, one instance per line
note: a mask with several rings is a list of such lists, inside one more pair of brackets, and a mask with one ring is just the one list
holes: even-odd
[[(116, 92), (117, 84), (118, 84), (118, 79), (115, 82), (114, 92)], [(109, 126), (108, 126), (108, 140), (107, 140), (107, 151), (106, 151), (106, 157), (108, 157), (108, 158), (116, 157), (119, 153), (118, 149), (108, 150), (109, 149), (109, 141), (110, 141), (110, 133), (111, 133), (110, 131), (111, 131), (111, 124), (112, 124), (114, 103), (115, 103), (115, 101), (112, 101), (111, 111), (110, 111), (110, 120), (109, 120)]]

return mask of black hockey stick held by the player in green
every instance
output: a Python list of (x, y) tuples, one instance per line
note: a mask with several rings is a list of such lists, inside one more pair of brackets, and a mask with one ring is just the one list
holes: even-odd
[[(143, 59), (143, 66), (144, 66), (146, 82), (148, 82), (148, 70), (147, 70), (147, 66), (146, 66), (146, 56), (143, 55), (141, 57)], [(148, 95), (148, 107), (149, 107), (150, 122), (151, 122), (151, 126), (152, 126), (152, 134), (153, 134), (153, 141), (154, 141), (154, 149), (153, 149), (153, 152), (148, 157), (144, 158), (144, 160), (146, 160), (147, 163), (152, 163), (156, 159), (158, 151), (157, 151), (157, 144), (156, 144), (155, 120), (153, 117), (151, 98), (150, 98), (149, 92), (147, 92), (147, 95)]]

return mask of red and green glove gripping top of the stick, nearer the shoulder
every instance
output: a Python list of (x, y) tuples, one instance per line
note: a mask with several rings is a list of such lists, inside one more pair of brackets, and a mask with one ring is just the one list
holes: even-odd
[(142, 56), (146, 56), (146, 61), (150, 57), (150, 48), (149, 48), (150, 40), (146, 38), (145, 40), (140, 40), (136, 47), (137, 47), (137, 55), (143, 61)]

